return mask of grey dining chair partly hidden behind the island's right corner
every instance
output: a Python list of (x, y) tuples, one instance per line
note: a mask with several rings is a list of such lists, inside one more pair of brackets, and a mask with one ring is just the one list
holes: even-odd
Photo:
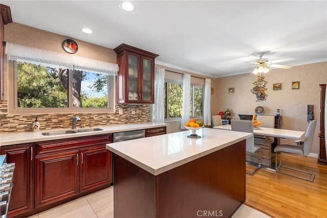
[[(261, 146), (258, 144), (254, 144), (254, 135), (253, 135), (253, 123), (251, 120), (242, 120), (242, 119), (231, 119), (230, 120), (231, 124), (231, 130), (232, 131), (239, 131), (239, 132), (247, 132), (247, 133), (252, 133), (252, 136), (250, 138), (246, 139), (246, 152), (249, 153), (255, 153), (258, 151), (258, 166), (254, 169), (252, 172), (246, 172), (246, 174), (249, 175), (254, 175), (255, 172), (259, 171), (261, 168)], [(248, 161), (246, 162), (248, 165), (250, 164)]]

